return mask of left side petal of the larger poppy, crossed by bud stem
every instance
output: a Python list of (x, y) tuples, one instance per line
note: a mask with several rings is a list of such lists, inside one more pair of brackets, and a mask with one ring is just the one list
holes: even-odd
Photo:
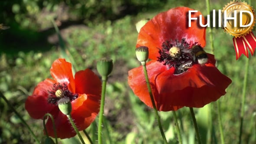
[[(159, 103), (161, 96), (158, 95), (158, 90), (155, 86), (155, 79), (162, 72), (166, 71), (167, 67), (155, 60), (151, 60), (150, 62), (148, 62), (146, 67), (148, 71), (149, 81), (151, 83), (151, 90), (154, 95), (154, 100), (155, 100), (157, 109), (158, 111), (166, 110), (166, 109), (163, 109), (162, 105), (160, 105)], [(135, 69), (131, 69), (128, 72), (128, 84), (133, 90), (133, 92), (135, 93), (135, 95), (137, 95), (141, 99), (141, 101), (143, 101), (149, 107), (151, 108), (153, 107), (149, 93), (148, 93), (148, 87), (145, 81), (142, 66)], [(168, 105), (168, 111), (177, 110), (178, 108), (181, 108), (181, 107)]]

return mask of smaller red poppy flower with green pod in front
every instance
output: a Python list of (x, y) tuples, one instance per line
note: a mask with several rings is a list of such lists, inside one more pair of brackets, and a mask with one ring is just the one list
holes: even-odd
[[(70, 138), (75, 131), (66, 115), (59, 110), (57, 101), (67, 97), (72, 104), (71, 116), (79, 129), (84, 130), (94, 121), (99, 112), (101, 98), (101, 81), (90, 69), (81, 70), (72, 75), (71, 63), (65, 59), (57, 59), (50, 69), (53, 79), (40, 82), (29, 96), (25, 108), (32, 118), (42, 119), (46, 113), (53, 115), (57, 137)], [(60, 90), (65, 95), (56, 96)], [(55, 137), (53, 123), (47, 121), (46, 129), (51, 137)]]

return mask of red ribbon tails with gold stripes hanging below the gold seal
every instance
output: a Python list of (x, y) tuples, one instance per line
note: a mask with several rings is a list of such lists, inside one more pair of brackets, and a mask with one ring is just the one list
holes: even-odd
[(249, 58), (247, 48), (249, 48), (253, 56), (256, 48), (256, 37), (253, 35), (253, 32), (248, 33), (246, 36), (241, 36), (240, 38), (233, 37), (233, 44), (236, 51), (236, 60), (239, 59), (242, 54)]

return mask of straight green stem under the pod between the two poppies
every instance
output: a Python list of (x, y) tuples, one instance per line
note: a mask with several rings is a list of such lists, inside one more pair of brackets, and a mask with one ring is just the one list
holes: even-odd
[(103, 112), (104, 112), (104, 105), (105, 105), (106, 85), (107, 85), (107, 76), (102, 76), (102, 97), (101, 97), (101, 105), (100, 105), (99, 118), (98, 118), (98, 144), (102, 144), (102, 120), (103, 120)]

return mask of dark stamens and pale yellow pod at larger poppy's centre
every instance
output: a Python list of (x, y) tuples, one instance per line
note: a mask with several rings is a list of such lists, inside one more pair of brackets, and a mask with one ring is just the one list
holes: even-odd
[[(193, 46), (196, 44), (194, 43)], [(164, 62), (164, 65), (167, 65), (169, 69), (174, 67), (174, 75), (186, 72), (195, 63), (190, 43), (187, 43), (185, 39), (181, 39), (181, 41), (177, 39), (175, 41), (167, 40), (158, 52), (160, 55), (158, 62)]]

